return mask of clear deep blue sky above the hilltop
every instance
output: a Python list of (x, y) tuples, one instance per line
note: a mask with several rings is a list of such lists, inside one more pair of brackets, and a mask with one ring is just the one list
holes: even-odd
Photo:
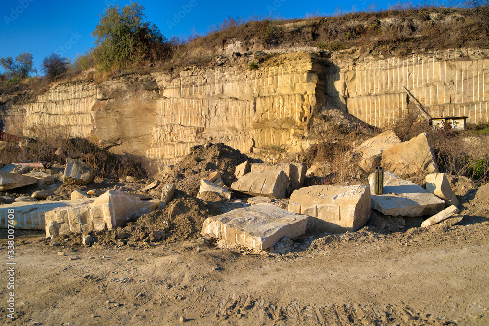
[[(136, 1), (133, 1), (136, 2)], [(228, 16), (250, 15), (298, 18), (320, 12), (333, 15), (338, 10), (369, 7), (387, 9), (395, 1), (370, 0), (141, 0), (147, 20), (156, 24), (167, 38), (186, 37), (195, 31), (204, 34)], [(397, 2), (397, 1), (396, 1)], [(90, 35), (108, 4), (124, 6), (129, 0), (0, 0), (0, 56), (31, 52), (39, 74), (41, 61), (53, 52), (73, 59), (94, 46)], [(178, 17), (179, 16), (179, 17)]]

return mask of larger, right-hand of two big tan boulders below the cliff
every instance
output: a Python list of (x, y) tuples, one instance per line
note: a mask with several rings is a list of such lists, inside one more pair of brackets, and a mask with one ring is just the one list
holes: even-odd
[(413, 176), (419, 172), (436, 172), (435, 157), (426, 133), (419, 134), (410, 141), (399, 143), (382, 153), (384, 170), (399, 176)]

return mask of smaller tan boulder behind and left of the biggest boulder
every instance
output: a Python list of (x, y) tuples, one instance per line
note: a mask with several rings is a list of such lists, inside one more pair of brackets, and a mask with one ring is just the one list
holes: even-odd
[(357, 149), (356, 152), (362, 154), (362, 160), (360, 162), (360, 167), (367, 172), (372, 171), (376, 161), (380, 161), (382, 153), (400, 143), (399, 137), (396, 136), (394, 131), (388, 130), (381, 133), (365, 142), (363, 142)]

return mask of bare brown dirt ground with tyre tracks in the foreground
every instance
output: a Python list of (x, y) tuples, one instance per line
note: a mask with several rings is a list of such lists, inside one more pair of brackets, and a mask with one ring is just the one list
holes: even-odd
[(448, 229), (315, 236), (285, 255), (203, 239), (53, 247), (43, 236), (17, 231), (13, 321), (1, 236), (4, 325), (489, 325), (482, 216)]

